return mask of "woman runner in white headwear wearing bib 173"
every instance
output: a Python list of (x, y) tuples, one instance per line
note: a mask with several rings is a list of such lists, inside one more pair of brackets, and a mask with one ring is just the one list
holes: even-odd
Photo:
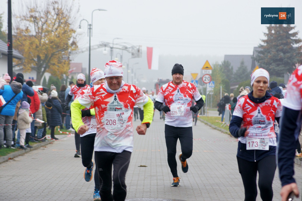
[(257, 174), (261, 199), (273, 199), (277, 146), (274, 122), (279, 122), (282, 105), (268, 93), (268, 83), (269, 74), (265, 69), (252, 73), (253, 90), (239, 98), (229, 126), (232, 136), (239, 140), (236, 157), (245, 200), (256, 200)]

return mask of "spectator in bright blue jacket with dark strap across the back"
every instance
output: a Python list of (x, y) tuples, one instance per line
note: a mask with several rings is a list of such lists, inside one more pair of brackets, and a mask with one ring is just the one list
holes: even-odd
[[(18, 82), (20, 81), (20, 82)], [(7, 148), (11, 147), (11, 141), (13, 132), (11, 129), (11, 124), (13, 122), (15, 108), (18, 101), (21, 100), (23, 96), (22, 92), (23, 80), (18, 79), (17, 81), (12, 81), (10, 85), (4, 85), (0, 89), (0, 95), (2, 95), (6, 104), (2, 106), (0, 113), (0, 148), (5, 145)], [(10, 101), (11, 100), (11, 101)], [(8, 124), (4, 126), (4, 124)], [(4, 131), (6, 132), (6, 143), (4, 144)]]

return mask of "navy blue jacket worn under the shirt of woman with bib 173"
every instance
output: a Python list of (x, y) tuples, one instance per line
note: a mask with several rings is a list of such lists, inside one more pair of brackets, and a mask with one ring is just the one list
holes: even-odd
[[(249, 99), (254, 103), (263, 103), (271, 97), (271, 94), (266, 92), (262, 98), (255, 98), (252, 96), (253, 91), (248, 94)], [(279, 117), (275, 117), (277, 122)], [(239, 137), (239, 129), (241, 128), (242, 118), (239, 116), (232, 116), (229, 130), (232, 136)], [(276, 155), (276, 146), (269, 146), (269, 150), (246, 150), (246, 144), (238, 142), (237, 157), (247, 161), (259, 161), (268, 155)]]

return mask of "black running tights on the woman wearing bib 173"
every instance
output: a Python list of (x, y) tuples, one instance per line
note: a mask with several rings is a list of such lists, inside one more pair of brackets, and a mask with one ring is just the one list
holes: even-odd
[(239, 173), (244, 186), (245, 201), (255, 201), (257, 197), (257, 171), (259, 173), (258, 187), (263, 201), (273, 199), (271, 187), (276, 171), (276, 156), (270, 155), (260, 161), (246, 161), (237, 157)]

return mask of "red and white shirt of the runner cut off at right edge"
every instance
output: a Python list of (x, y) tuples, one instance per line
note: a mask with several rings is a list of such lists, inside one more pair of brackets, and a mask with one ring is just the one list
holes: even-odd
[(283, 106), (292, 110), (302, 109), (302, 65), (300, 65), (288, 80)]

